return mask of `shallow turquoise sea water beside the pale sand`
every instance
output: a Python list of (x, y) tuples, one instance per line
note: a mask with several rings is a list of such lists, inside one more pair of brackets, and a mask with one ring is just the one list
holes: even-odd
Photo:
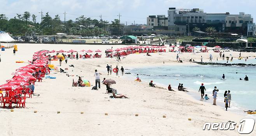
[[(256, 60), (250, 61), (256, 64)], [(195, 66), (160, 66), (160, 67), (144, 67), (138, 69), (126, 70), (132, 73), (130, 76), (136, 77), (139, 74), (142, 81), (151, 81), (163, 86), (172, 85), (176, 88), (179, 83), (183, 83), (185, 88), (191, 90), (190, 94), (200, 100), (198, 93), (201, 83), (206, 88), (205, 94), (208, 94), (212, 103), (212, 90), (214, 86), (219, 89), (217, 102), (222, 102), (224, 107), (224, 91), (231, 91), (231, 108), (232, 110), (256, 110), (256, 67), (238, 67), (238, 66), (215, 66), (215, 65), (195, 65)], [(237, 73), (236, 73), (237, 72)], [(221, 80), (225, 74), (226, 80)], [(245, 75), (249, 77), (249, 81), (240, 81)], [(222, 106), (222, 105), (221, 105)]]

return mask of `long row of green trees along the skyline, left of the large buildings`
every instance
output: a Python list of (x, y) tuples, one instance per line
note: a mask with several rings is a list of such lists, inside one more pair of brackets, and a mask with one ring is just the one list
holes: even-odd
[(37, 22), (37, 16), (26, 11), (24, 14), (16, 14), (14, 18), (8, 19), (5, 14), (0, 14), (0, 31), (5, 31), (14, 36), (32, 36), (34, 33), (43, 35), (56, 35), (56, 33), (68, 33), (82, 36), (108, 35), (110, 31), (120, 31), (121, 25), (118, 19), (108, 21), (91, 19), (84, 15), (63, 22), (59, 15), (51, 17), (47, 12), (42, 22)]

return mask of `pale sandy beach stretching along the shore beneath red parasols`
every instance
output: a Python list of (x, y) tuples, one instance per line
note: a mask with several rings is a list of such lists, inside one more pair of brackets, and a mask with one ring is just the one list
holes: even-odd
[[(35, 83), (35, 94), (26, 100), (26, 108), (10, 109), (0, 108), (1, 123), (0, 134), (3, 136), (199, 136), (202, 134), (217, 136), (240, 135), (237, 128), (233, 131), (203, 131), (205, 122), (227, 122), (239, 123), (245, 116), (224, 111), (219, 106), (207, 102), (195, 100), (192, 96), (181, 91), (168, 91), (162, 88), (152, 88), (147, 82), (135, 82), (124, 76), (107, 75), (106, 65), (115, 67), (118, 65), (127, 67), (161, 66), (161, 65), (198, 65), (188, 62), (193, 58), (195, 61), (209, 60), (209, 54), (213, 59), (219, 57), (219, 53), (212, 51), (208, 53), (183, 53), (179, 54), (183, 63), (176, 61), (177, 53), (146, 53), (130, 54), (116, 58), (105, 58), (105, 50), (113, 46), (113, 49), (125, 47), (125, 45), (51, 45), (51, 44), (18, 44), (18, 52), (14, 56), (12, 49), (0, 52), (0, 84), (5, 84), (11, 79), (12, 72), (19, 67), (28, 65), (32, 60), (34, 52), (39, 50), (102, 50), (102, 58), (95, 59), (68, 59), (68, 63), (52, 61), (58, 68), (68, 68), (65, 73), (51, 72), (50, 76), (56, 79), (43, 79)], [(168, 48), (167, 48), (168, 50)], [(240, 52), (225, 52), (239, 57)], [(53, 53), (54, 55), (56, 53)], [(80, 54), (80, 52), (79, 52)], [(92, 53), (94, 54), (94, 52)], [(243, 55), (244, 53), (242, 53)], [(246, 53), (247, 56), (255, 58), (256, 53)], [(245, 56), (244, 56), (245, 57)], [(23, 60), (25, 63), (15, 63)], [(164, 62), (164, 63), (163, 63)], [(68, 65), (73, 64), (74, 67)], [(99, 90), (91, 90), (91, 87), (72, 87), (72, 80), (82, 79), (90, 81), (95, 85), (94, 71), (97, 69), (101, 75), (101, 81), (114, 79), (117, 84), (111, 87), (118, 93), (124, 94), (129, 99), (109, 98), (111, 94), (105, 94), (106, 87), (101, 84)], [(56, 73), (56, 74), (54, 74)], [(167, 88), (167, 86), (166, 86)], [(212, 101), (212, 100), (210, 100)], [(34, 113), (34, 111), (37, 113)], [(57, 114), (60, 111), (60, 114)], [(84, 114), (81, 114), (84, 112)], [(108, 115), (105, 115), (107, 113)], [(139, 114), (135, 116), (135, 114)], [(163, 118), (163, 115), (166, 118)], [(188, 119), (191, 118), (191, 121)], [(249, 134), (255, 135), (256, 131)]]

